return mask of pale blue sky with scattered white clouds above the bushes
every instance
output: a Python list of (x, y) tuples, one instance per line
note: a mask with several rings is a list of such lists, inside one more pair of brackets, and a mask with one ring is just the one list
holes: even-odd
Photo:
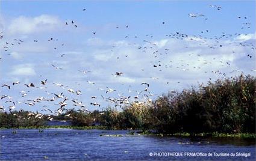
[[(25, 104), (52, 93), (69, 97), (67, 109), (79, 109), (70, 101), (78, 99), (92, 111), (113, 106), (101, 96), (154, 100), (210, 78), (255, 76), (255, 1), (1, 1), (0, 7), (0, 84), (20, 82), (0, 89), (10, 96), (1, 100), (7, 111), (8, 100), (17, 110), (55, 110), (61, 99)], [(32, 82), (35, 88), (24, 85)], [(106, 94), (106, 87), (116, 91)]]

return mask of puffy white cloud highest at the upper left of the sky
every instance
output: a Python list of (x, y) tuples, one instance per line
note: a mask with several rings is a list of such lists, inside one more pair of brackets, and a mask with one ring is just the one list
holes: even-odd
[(8, 31), (11, 34), (31, 34), (56, 29), (61, 21), (56, 16), (42, 14), (37, 17), (19, 16), (11, 20)]

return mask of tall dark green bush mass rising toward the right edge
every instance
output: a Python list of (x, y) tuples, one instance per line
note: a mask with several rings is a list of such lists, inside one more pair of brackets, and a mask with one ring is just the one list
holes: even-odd
[(254, 77), (241, 75), (159, 97), (152, 111), (155, 129), (166, 133), (255, 133), (255, 83)]

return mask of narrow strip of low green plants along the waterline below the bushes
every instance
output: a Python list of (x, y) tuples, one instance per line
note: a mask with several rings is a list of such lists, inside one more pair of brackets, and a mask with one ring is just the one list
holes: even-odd
[[(154, 133), (150, 130), (130, 130), (130, 129), (111, 129), (105, 126), (28, 126), (28, 127), (18, 127), (18, 128), (1, 128), (4, 129), (39, 129), (39, 132), (42, 132), (40, 129), (76, 129), (76, 130), (129, 130), (127, 135), (155, 135), (155, 136), (175, 136), (175, 137), (183, 137), (183, 138), (192, 138), (192, 137), (199, 137), (199, 138), (245, 138), (245, 139), (255, 139), (256, 133)], [(104, 134), (102, 135), (104, 136)], [(116, 136), (120, 136), (116, 134)]]

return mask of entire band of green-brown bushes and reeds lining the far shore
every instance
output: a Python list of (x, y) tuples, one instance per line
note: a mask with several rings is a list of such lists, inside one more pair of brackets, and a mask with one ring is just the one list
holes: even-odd
[(53, 120), (70, 121), (70, 126), (46, 126), (49, 116), (38, 118), (28, 111), (0, 112), (0, 128), (129, 129), (129, 135), (255, 139), (255, 89), (255, 77), (240, 75), (180, 93), (170, 91), (147, 103), (133, 102), (122, 111), (108, 107), (104, 111), (71, 110), (51, 116)]

